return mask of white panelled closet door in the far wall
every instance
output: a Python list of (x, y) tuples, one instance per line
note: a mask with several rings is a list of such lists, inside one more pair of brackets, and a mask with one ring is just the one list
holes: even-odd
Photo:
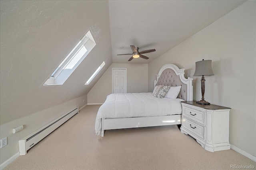
[(113, 93), (127, 93), (127, 74), (126, 69), (113, 68), (112, 69), (112, 89)]

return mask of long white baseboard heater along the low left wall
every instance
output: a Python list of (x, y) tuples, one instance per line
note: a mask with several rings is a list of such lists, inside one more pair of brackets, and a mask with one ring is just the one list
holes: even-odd
[(76, 113), (78, 113), (78, 107), (76, 107), (74, 110), (68, 113), (65, 113), (64, 115), (58, 117), (54, 121), (51, 121), (44, 127), (41, 127), (37, 131), (19, 140), (20, 155), (25, 155), (28, 149), (32, 148), (34, 145), (36, 145), (36, 143), (44, 139), (47, 135), (52, 133), (52, 131), (57, 129), (60, 125), (65, 123), (68, 119), (70, 119)]

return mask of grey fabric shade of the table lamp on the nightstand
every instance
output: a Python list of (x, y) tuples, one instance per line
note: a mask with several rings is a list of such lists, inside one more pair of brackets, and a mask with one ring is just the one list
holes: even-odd
[(212, 76), (212, 61), (211, 60), (202, 60), (196, 62), (196, 71), (194, 76)]

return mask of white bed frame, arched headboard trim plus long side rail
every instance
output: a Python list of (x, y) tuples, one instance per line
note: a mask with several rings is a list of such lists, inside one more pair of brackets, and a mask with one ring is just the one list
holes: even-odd
[[(187, 101), (193, 100), (193, 78), (184, 77), (184, 68), (179, 69), (174, 64), (165, 64), (156, 74), (157, 79), (154, 81), (154, 86), (156, 86), (158, 79), (160, 78), (162, 72), (171, 68), (174, 70), (177, 76), (180, 76), (182, 83), (187, 84)], [(110, 129), (126, 129), (135, 127), (150, 127), (150, 126), (164, 126), (164, 125), (180, 125), (181, 124), (181, 114), (180, 115), (165, 115), (165, 116), (152, 116), (152, 117), (128, 117), (128, 118), (102, 118), (102, 131), (101, 136), (104, 137), (104, 131)]]

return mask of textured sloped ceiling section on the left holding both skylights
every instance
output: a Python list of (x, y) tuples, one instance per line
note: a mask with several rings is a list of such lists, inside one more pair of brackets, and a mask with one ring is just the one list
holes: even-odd
[[(0, 3), (1, 124), (87, 94), (112, 64), (108, 1)], [(97, 44), (91, 53), (62, 86), (42, 87), (88, 30)]]

